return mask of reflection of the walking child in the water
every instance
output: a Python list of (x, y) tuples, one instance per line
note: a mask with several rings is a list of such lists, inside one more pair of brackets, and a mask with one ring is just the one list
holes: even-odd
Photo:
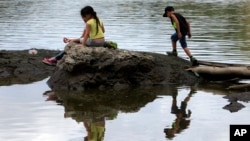
[(195, 90), (190, 90), (185, 99), (181, 102), (181, 105), (177, 106), (177, 96), (178, 90), (173, 92), (172, 94), (172, 105), (171, 105), (171, 114), (175, 114), (176, 119), (173, 121), (172, 125), (168, 128), (164, 129), (166, 134), (166, 138), (172, 139), (176, 134), (180, 134), (184, 129), (187, 129), (190, 125), (191, 120), (189, 119), (191, 116), (191, 110), (187, 110), (187, 104), (194, 94)]

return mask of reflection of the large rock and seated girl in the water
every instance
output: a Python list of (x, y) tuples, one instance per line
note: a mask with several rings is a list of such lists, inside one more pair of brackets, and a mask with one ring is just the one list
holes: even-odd
[(44, 93), (46, 101), (56, 101), (65, 109), (64, 118), (82, 122), (86, 130), (84, 141), (101, 141), (105, 137), (105, 121), (114, 120), (119, 112), (134, 113), (157, 98), (155, 89), (90, 90), (84, 93)]

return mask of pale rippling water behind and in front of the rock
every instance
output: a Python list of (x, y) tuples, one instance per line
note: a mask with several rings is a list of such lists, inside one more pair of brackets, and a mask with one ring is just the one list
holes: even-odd
[[(171, 50), (174, 30), (162, 17), (171, 4), (191, 22), (188, 46), (198, 59), (250, 64), (249, 0), (1, 0), (0, 50), (63, 49), (62, 37), (80, 36), (84, 24), (79, 10), (88, 4), (103, 19), (106, 39), (118, 42), (119, 48), (162, 54)], [(178, 51), (186, 57), (180, 46)], [(61, 105), (46, 101), (46, 80), (0, 86), (0, 140), (82, 141), (87, 136), (83, 122), (100, 121), (105, 122), (105, 141), (228, 141), (230, 124), (250, 123), (249, 103), (242, 102), (246, 107), (234, 113), (222, 109), (228, 104), (223, 96), (230, 93), (224, 85), (141, 88), (105, 93), (110, 99), (99, 100), (61, 97)], [(190, 98), (186, 112), (192, 114), (183, 119), (186, 129), (171, 138), (163, 131), (175, 123), (171, 106), (176, 92), (178, 107)]]

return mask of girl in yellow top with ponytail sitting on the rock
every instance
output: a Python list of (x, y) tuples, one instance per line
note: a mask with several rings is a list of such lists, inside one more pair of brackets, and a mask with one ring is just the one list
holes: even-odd
[[(102, 23), (102, 20), (97, 17), (96, 12), (91, 6), (86, 6), (82, 8), (80, 14), (86, 24), (82, 36), (76, 39), (63, 38), (64, 43), (76, 42), (88, 47), (108, 47), (114, 49), (117, 48), (117, 44), (115, 42), (105, 41), (104, 25)], [(65, 52), (62, 51), (55, 57), (44, 58), (43, 62), (49, 65), (56, 65), (57, 60), (60, 60), (64, 54)]]

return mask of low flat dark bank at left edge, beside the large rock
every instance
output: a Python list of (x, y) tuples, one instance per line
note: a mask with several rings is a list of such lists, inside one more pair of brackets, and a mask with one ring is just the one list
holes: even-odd
[(0, 51), (0, 86), (27, 84), (40, 81), (52, 74), (54, 67), (44, 65), (44, 57), (53, 56), (58, 51), (37, 50), (35, 55), (28, 50)]

